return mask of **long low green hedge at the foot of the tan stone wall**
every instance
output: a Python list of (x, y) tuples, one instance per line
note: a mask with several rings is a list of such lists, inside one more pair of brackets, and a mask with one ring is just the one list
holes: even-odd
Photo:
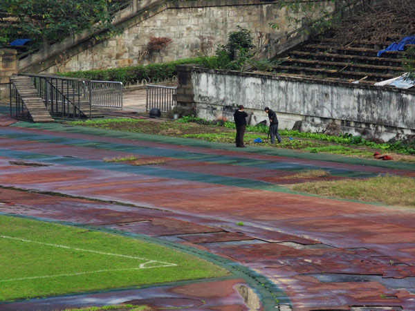
[(195, 57), (161, 64), (149, 64), (145, 66), (133, 66), (116, 69), (74, 71), (71, 73), (60, 73), (59, 75), (89, 80), (118, 81), (122, 82), (124, 85), (127, 83), (141, 83), (143, 80), (146, 80), (147, 83), (156, 83), (158, 81), (172, 79), (172, 77), (176, 76), (176, 65), (206, 64), (210, 58), (214, 57)]

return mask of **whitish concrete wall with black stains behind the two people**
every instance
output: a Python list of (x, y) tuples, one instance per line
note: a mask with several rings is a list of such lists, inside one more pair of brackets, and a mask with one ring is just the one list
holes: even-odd
[(334, 122), (342, 132), (383, 140), (415, 134), (415, 91), (201, 68), (192, 70), (192, 86), (199, 116), (210, 120), (232, 120), (242, 104), (253, 112), (252, 124), (266, 120), (269, 106), (283, 129), (300, 120), (303, 131), (323, 131)]

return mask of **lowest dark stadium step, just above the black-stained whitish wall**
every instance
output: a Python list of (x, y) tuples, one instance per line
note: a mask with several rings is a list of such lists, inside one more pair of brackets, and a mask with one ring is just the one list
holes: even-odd
[[(351, 79), (353, 81), (359, 80), (362, 78), (369, 78), (369, 80), (374, 82), (380, 82), (386, 79), (391, 79), (396, 77), (396, 75), (386, 75), (386, 74), (379, 74), (379, 73), (367, 73), (367, 72), (353, 72), (347, 70), (329, 70), (329, 69), (322, 69), (322, 68), (310, 68), (310, 67), (297, 67), (297, 66), (275, 66), (276, 70), (279, 70), (282, 73), (294, 73), (296, 75), (315, 75), (317, 77), (323, 78), (324, 77), (338, 77), (342, 79)], [(322, 77), (321, 77), (322, 76)], [(315, 77), (316, 78), (316, 77)]]

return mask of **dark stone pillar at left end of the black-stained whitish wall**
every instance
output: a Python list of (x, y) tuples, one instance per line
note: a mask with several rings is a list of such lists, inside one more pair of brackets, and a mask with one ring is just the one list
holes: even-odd
[(192, 110), (194, 108), (194, 93), (192, 85), (192, 69), (201, 65), (177, 65), (178, 86), (176, 102), (179, 109)]

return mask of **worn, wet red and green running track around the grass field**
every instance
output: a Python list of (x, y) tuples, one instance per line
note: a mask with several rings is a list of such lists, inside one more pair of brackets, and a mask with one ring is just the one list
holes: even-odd
[[(104, 161), (126, 155), (165, 162)], [(308, 181), (295, 177), (304, 169), (325, 169), (331, 175), (320, 179), (332, 180), (415, 177), (410, 163), (239, 151), (62, 124), (1, 126), (0, 212), (149, 236), (248, 270), (227, 280), (36, 299), (0, 310), (127, 301), (179, 310), (415, 310), (414, 211), (295, 193), (286, 185)]]

